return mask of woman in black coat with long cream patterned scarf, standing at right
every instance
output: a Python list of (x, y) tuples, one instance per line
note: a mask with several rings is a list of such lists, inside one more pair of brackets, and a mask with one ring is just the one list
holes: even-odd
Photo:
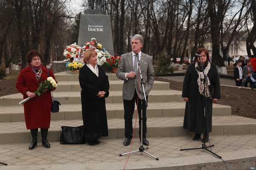
[(208, 133), (212, 132), (212, 103), (221, 98), (220, 81), (207, 49), (198, 48), (195, 53), (201, 57), (195, 56), (183, 81), (182, 97), (186, 102), (183, 128), (195, 132), (193, 140), (204, 133), (202, 142), (208, 142)]

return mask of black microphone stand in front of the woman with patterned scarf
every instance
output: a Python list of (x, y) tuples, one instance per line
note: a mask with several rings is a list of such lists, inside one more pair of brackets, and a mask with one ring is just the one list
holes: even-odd
[[(201, 55), (199, 55), (198, 57), (202, 57)], [(200, 59), (199, 59), (200, 60)], [(203, 71), (203, 74), (204, 74), (204, 67), (203, 67), (203, 61), (201, 60), (201, 68), (202, 68), (202, 71)], [(201, 81), (204, 81), (204, 88), (205, 88), (205, 84), (207, 84), (207, 79), (208, 77), (204, 74), (204, 79), (201, 80)], [(207, 84), (207, 91), (209, 92), (209, 87), (208, 87), (208, 84)], [(205, 91), (204, 91), (205, 93)], [(211, 94), (209, 93), (209, 98), (212, 99), (212, 96)], [(205, 119), (205, 116), (207, 116), (207, 119)], [(208, 115), (207, 115), (207, 96), (205, 94), (205, 105), (204, 105), (204, 137), (205, 137), (205, 132), (206, 132), (206, 125), (207, 125), (207, 138), (209, 140), (209, 132), (208, 132)], [(204, 139), (204, 138), (203, 138)], [(202, 147), (198, 147), (198, 148), (188, 148), (188, 149), (180, 149), (180, 151), (182, 150), (198, 150), (198, 149), (204, 149), (204, 150), (207, 150), (208, 152), (212, 153), (213, 155), (215, 156), (218, 156), (216, 153), (213, 153), (211, 150), (207, 149), (208, 147), (213, 147), (214, 144), (210, 145), (210, 146), (207, 146), (205, 144), (205, 140), (204, 140), (204, 143), (202, 144)], [(218, 156), (220, 159), (221, 159), (221, 156)]]

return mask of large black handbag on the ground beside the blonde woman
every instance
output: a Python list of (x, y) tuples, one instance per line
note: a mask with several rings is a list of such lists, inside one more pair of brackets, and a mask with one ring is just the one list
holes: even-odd
[(61, 144), (85, 144), (84, 126), (61, 126)]

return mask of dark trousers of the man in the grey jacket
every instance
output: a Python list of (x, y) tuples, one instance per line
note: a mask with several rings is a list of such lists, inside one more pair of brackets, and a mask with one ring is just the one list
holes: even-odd
[[(137, 100), (138, 99), (138, 100)], [(146, 99), (148, 101), (148, 96), (146, 96)], [(124, 110), (125, 110), (125, 138), (132, 139), (133, 134), (133, 128), (132, 128), (132, 117), (134, 114), (134, 102), (138, 102), (138, 114), (139, 114), (139, 136), (141, 135), (141, 99), (138, 98), (137, 92), (135, 90), (134, 96), (131, 100), (123, 100), (124, 102)], [(147, 117), (146, 117), (146, 105), (145, 105), (145, 99), (143, 99), (143, 132), (142, 137), (146, 138), (147, 133)]]

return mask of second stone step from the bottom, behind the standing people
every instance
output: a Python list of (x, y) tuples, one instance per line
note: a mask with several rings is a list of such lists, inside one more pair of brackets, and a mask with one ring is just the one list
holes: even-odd
[[(123, 118), (123, 103), (106, 103), (108, 119)], [(172, 117), (184, 116), (184, 102), (149, 102), (147, 108), (147, 117)], [(136, 105), (134, 111), (136, 115)], [(82, 119), (81, 104), (61, 104), (58, 113), (51, 113), (52, 120), (70, 120)], [(214, 116), (230, 116), (231, 108), (229, 106), (213, 104)], [(25, 121), (23, 106), (1, 106), (0, 122), (20, 122)]]

